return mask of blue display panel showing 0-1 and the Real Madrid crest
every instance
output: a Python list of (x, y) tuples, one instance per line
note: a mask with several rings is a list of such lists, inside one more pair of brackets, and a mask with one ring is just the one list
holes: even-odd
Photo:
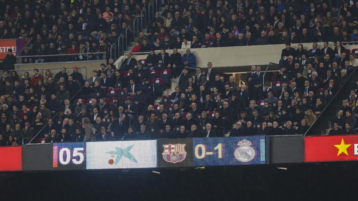
[(193, 138), (194, 166), (266, 164), (266, 137)]

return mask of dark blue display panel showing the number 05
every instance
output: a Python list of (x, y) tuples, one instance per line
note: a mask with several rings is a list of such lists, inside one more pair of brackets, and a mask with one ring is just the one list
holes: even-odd
[(53, 170), (86, 169), (86, 142), (53, 143)]

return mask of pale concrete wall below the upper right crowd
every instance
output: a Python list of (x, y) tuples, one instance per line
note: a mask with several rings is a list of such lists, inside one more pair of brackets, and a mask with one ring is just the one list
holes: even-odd
[[(297, 49), (298, 44), (292, 44), (291, 47)], [(312, 43), (303, 43), (305, 49), (311, 49)], [(329, 43), (333, 48), (333, 42)], [(352, 47), (350, 47), (352, 46)], [(347, 45), (346, 48), (353, 49), (353, 46)], [(323, 48), (323, 43), (318, 43), (319, 48)], [(253, 45), (253, 46), (235, 46), (222, 48), (195, 48), (191, 49), (196, 56), (198, 67), (207, 67), (208, 62), (213, 63), (213, 67), (228, 67), (228, 66), (248, 66), (248, 65), (267, 65), (270, 62), (278, 63), (281, 57), (282, 49), (285, 44), (277, 45)], [(156, 50), (155, 53), (159, 53)], [(173, 50), (166, 50), (169, 55)], [(185, 54), (185, 49), (179, 49), (180, 54)], [(147, 55), (134, 55), (135, 59), (145, 59)], [(115, 64), (120, 66), (126, 57), (120, 57)], [(237, 70), (240, 72), (240, 69)]]

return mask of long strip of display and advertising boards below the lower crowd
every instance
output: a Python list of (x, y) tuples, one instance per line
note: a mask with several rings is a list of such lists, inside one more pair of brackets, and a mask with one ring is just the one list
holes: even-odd
[(358, 160), (358, 135), (64, 142), (0, 147), (0, 171), (297, 164)]

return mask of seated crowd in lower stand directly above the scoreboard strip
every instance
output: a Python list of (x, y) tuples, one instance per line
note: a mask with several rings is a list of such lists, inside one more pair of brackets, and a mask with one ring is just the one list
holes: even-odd
[[(35, 69), (33, 76), (26, 72), (21, 78), (16, 71), (10, 74), (5, 70), (1, 82), (0, 144), (28, 143), (35, 136), (33, 143), (38, 139), (68, 142), (216, 137), (226, 133), (304, 134), (348, 82), (347, 72), (354, 70), (357, 59), (349, 60), (342, 54), (339, 60), (344, 62), (333, 62), (328, 54), (321, 54), (311, 63), (305, 54), (301, 60), (290, 54), (285, 56), (292, 49), (287, 43), (282, 50), (282, 57), (287, 59), (272, 84), (264, 82), (260, 66), (252, 66), (240, 87), (232, 76), (223, 80), (211, 62), (205, 70), (195, 68), (194, 75), (188, 71), (194, 69), (191, 67), (174, 75), (175, 70), (166, 64), (151, 63), (148, 58), (137, 62), (130, 53), (119, 69), (111, 63), (101, 64), (88, 80), (83, 80), (77, 67), (71, 74), (66, 68), (58, 73), (46, 70), (45, 75)], [(187, 53), (192, 54), (190, 49)], [(165, 53), (163, 57), (179, 58), (178, 66), (186, 66), (188, 63), (177, 54), (173, 52), (169, 57)], [(148, 57), (158, 55), (151, 50)], [(154, 69), (149, 70), (151, 67)], [(175, 91), (154, 105), (172, 77), (179, 78)], [(346, 101), (347, 108), (357, 104), (355, 97), (355, 101)], [(350, 113), (343, 110), (344, 114)], [(345, 118), (353, 122), (354, 115)], [(233, 124), (236, 128), (232, 128)]]

